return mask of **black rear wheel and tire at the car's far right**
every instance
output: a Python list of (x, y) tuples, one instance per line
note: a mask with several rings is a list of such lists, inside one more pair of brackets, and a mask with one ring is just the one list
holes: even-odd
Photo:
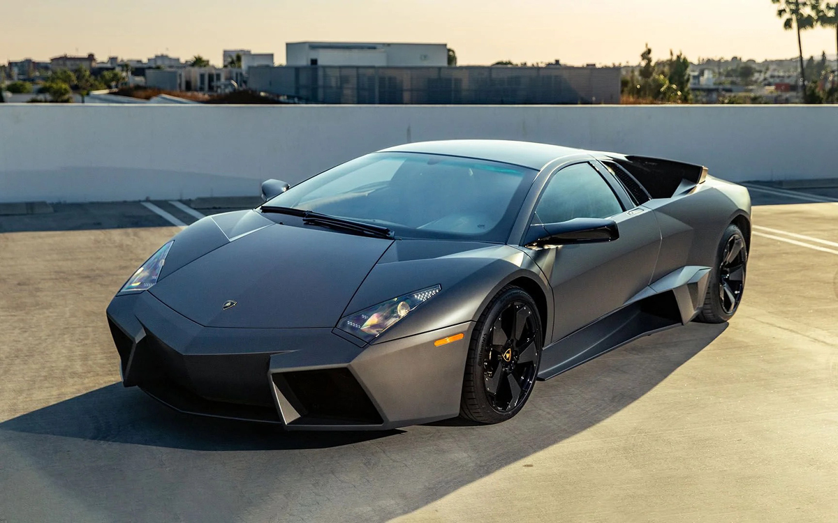
[(697, 320), (724, 323), (736, 314), (745, 290), (746, 269), (745, 236), (736, 225), (728, 225), (716, 250), (716, 264), (710, 272), (710, 283)]

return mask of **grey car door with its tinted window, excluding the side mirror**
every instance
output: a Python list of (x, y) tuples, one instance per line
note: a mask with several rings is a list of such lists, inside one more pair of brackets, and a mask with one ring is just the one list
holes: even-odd
[[(555, 302), (553, 340), (622, 307), (649, 285), (660, 249), (654, 213), (634, 205), (616, 178), (591, 162), (555, 172), (541, 192), (531, 223), (610, 218), (619, 238), (532, 252), (550, 280)], [(550, 341), (548, 341), (550, 342)]]

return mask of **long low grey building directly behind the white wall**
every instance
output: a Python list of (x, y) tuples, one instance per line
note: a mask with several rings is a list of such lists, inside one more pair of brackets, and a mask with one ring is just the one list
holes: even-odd
[(618, 104), (618, 67), (253, 67), (251, 90), (317, 104)]

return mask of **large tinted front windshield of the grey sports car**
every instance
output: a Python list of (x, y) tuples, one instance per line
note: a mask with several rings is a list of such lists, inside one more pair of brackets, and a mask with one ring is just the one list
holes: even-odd
[(503, 243), (535, 174), (458, 156), (376, 152), (309, 178), (265, 207), (383, 225), (396, 238)]

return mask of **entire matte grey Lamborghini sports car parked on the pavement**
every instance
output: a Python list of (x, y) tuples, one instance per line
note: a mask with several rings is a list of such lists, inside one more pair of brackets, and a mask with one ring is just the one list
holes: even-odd
[(701, 166), (436, 141), (262, 192), (111, 301), (126, 387), (288, 429), (498, 423), (536, 381), (742, 299), (750, 197)]

